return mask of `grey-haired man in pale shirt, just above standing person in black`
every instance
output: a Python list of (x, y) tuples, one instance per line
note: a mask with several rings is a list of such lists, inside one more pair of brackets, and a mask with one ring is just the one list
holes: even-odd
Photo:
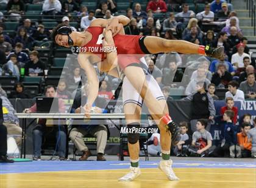
[[(188, 86), (185, 90), (185, 95), (192, 95), (194, 92), (196, 92), (196, 86), (198, 85), (198, 83), (201, 82), (205, 82), (206, 87), (208, 87), (208, 85), (211, 83), (210, 80), (208, 80), (206, 78), (206, 72), (207, 70), (205, 70), (204, 66), (199, 66), (197, 69), (197, 76), (194, 79), (191, 79), (191, 81), (188, 83)], [(201, 86), (202, 87), (202, 86)]]

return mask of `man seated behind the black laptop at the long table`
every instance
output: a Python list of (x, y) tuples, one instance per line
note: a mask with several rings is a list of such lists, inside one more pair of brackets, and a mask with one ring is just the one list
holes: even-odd
[[(55, 97), (54, 86), (46, 86), (45, 88), (46, 97)], [(51, 104), (49, 104), (51, 105)], [(37, 104), (35, 103), (29, 109), (24, 109), (25, 113), (37, 112)], [(59, 112), (65, 113), (65, 104), (62, 99), (59, 99)], [(43, 143), (43, 135), (48, 135), (51, 132), (55, 133), (57, 141), (57, 149), (60, 160), (65, 160), (66, 153), (66, 129), (64, 120), (57, 119), (57, 121), (50, 121), (51, 119), (38, 119), (37, 126), (33, 129), (33, 160), (39, 161), (41, 159), (41, 146)]]

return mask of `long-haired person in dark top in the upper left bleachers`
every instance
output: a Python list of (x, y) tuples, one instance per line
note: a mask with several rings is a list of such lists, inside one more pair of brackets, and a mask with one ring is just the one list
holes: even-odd
[(17, 36), (14, 38), (14, 44), (17, 42), (22, 43), (26, 50), (32, 50), (34, 47), (34, 38), (27, 35), (27, 31), (23, 27), (18, 31)]

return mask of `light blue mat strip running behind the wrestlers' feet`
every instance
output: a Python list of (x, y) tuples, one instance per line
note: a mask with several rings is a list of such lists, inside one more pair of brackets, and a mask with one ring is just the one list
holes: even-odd
[[(159, 161), (141, 161), (141, 168), (156, 168)], [(108, 170), (128, 169), (128, 161), (32, 161), (20, 163), (0, 163), (1, 173), (32, 173), (56, 172), (71, 170)], [(253, 162), (218, 162), (179, 160), (172, 165), (174, 168), (256, 168)]]

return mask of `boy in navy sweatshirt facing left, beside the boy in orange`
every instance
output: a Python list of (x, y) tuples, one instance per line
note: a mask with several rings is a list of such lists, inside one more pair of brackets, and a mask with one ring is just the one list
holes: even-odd
[(232, 123), (235, 113), (232, 110), (226, 110), (223, 115), (224, 124), (224, 138), (222, 139), (221, 148), (224, 151), (224, 157), (235, 157), (235, 153), (230, 149), (231, 146), (236, 145), (236, 126)]

